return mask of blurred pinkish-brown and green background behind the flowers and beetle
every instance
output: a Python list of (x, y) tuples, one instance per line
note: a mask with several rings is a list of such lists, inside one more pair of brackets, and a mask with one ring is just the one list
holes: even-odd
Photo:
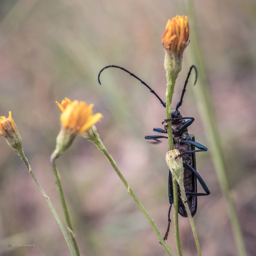
[[(248, 255), (256, 241), (256, 3), (253, 0), (194, 1), (196, 28), (209, 89), (228, 164), (228, 176)], [(2, 0), (0, 3), (0, 115), (12, 116), (37, 179), (65, 222), (50, 165), (60, 129), (55, 105), (68, 97), (94, 103), (104, 118), (96, 125), (109, 153), (155, 220), (161, 234), (169, 208), (167, 141), (152, 145), (165, 109), (129, 69), (165, 98), (161, 35), (169, 18), (186, 15), (185, 1)], [(189, 17), (188, 17), (189, 21)], [(190, 45), (176, 82), (180, 99)], [(200, 78), (200, 74), (198, 74)], [(211, 195), (198, 198), (194, 217), (203, 255), (237, 255), (225, 201), (207, 145), (207, 132), (188, 84), (180, 112), (194, 116), (189, 132), (208, 147), (196, 153), (197, 170)], [(25, 165), (0, 139), (0, 255), (70, 255), (51, 210)], [(77, 137), (58, 160), (81, 255), (167, 255), (151, 226), (104, 156)], [(199, 191), (202, 192), (202, 188)], [(173, 213), (171, 213), (171, 216)], [(173, 218), (173, 217), (172, 217)], [(187, 218), (179, 217), (183, 255), (196, 255)], [(33, 248), (8, 244), (35, 244)], [(173, 223), (167, 244), (176, 255)]]

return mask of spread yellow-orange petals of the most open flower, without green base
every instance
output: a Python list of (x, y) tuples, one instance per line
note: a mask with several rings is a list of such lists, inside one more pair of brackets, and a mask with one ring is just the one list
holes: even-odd
[(102, 117), (100, 113), (92, 115), (93, 104), (88, 106), (84, 101), (74, 100), (72, 102), (65, 98), (61, 104), (57, 101), (56, 104), (62, 111), (60, 121), (63, 128), (76, 135), (88, 131)]

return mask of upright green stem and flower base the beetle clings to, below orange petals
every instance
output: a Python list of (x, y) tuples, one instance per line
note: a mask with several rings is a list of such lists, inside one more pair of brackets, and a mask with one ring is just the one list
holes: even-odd
[[(177, 57), (177, 56), (176, 56)], [(174, 93), (174, 86), (178, 74), (181, 69), (181, 62), (178, 60), (179, 58), (173, 57), (168, 50), (165, 51), (165, 58), (164, 58), (164, 69), (166, 71), (166, 119), (171, 118), (171, 111), (172, 111), (172, 95)], [(182, 61), (182, 56), (181, 56)], [(168, 133), (168, 144), (169, 150), (173, 148), (173, 139), (172, 139), (172, 124), (171, 122), (168, 123), (166, 127)], [(174, 207), (174, 215), (173, 215), (173, 222), (174, 222), (174, 233), (175, 233), (175, 243), (176, 249), (179, 256), (182, 256), (181, 251), (181, 244), (180, 244), (180, 232), (179, 232), (179, 219), (178, 219), (178, 186), (177, 181), (173, 179), (173, 207)]]

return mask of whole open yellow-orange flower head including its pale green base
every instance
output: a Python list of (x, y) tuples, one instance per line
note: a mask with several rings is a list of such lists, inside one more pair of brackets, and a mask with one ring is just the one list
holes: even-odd
[(102, 117), (100, 113), (92, 115), (93, 104), (88, 106), (84, 101), (71, 101), (65, 98), (61, 104), (58, 101), (56, 104), (62, 112), (60, 115), (62, 127), (56, 139), (56, 148), (52, 153), (51, 161), (70, 147), (76, 135), (87, 132)]

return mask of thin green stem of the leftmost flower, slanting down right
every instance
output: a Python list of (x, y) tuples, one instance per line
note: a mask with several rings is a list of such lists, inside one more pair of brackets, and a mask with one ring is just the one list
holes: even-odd
[(38, 189), (40, 190), (41, 194), (44, 196), (44, 199), (45, 199), (46, 203), (47, 203), (47, 204), (49, 205), (49, 207), (51, 208), (52, 213), (53, 213), (55, 219), (57, 220), (57, 222), (58, 222), (58, 224), (59, 224), (59, 226), (60, 226), (61, 232), (62, 232), (62, 234), (63, 234), (63, 236), (64, 236), (64, 238), (65, 238), (65, 240), (66, 240), (66, 242), (67, 242), (67, 244), (68, 244), (68, 248), (69, 248), (69, 250), (70, 250), (70, 252), (71, 252), (71, 255), (72, 255), (72, 256), (76, 256), (76, 253), (75, 253), (75, 251), (74, 251), (74, 249), (73, 249), (73, 247), (72, 247), (72, 244), (71, 244), (70, 241), (69, 241), (68, 235), (67, 235), (67, 233), (66, 233), (66, 231), (65, 231), (65, 228), (64, 228), (62, 222), (60, 221), (60, 218), (59, 218), (58, 214), (57, 214), (57, 212), (55, 211), (54, 207), (52, 206), (52, 203), (51, 203), (49, 197), (46, 196), (46, 194), (44, 193), (43, 188), (41, 187), (41, 185), (39, 184), (38, 180), (36, 179), (36, 176), (35, 176), (34, 172), (32, 171), (32, 169), (31, 169), (31, 167), (30, 167), (30, 164), (28, 163), (28, 159), (27, 159), (27, 157), (25, 156), (23, 150), (21, 149), (21, 150), (17, 151), (17, 154), (20, 156), (21, 160), (23, 161), (23, 163), (24, 163), (24, 164), (26, 165), (26, 167), (28, 168), (28, 171), (29, 171), (30, 175), (32, 176), (33, 180), (35, 181), (36, 186), (37, 186)]

